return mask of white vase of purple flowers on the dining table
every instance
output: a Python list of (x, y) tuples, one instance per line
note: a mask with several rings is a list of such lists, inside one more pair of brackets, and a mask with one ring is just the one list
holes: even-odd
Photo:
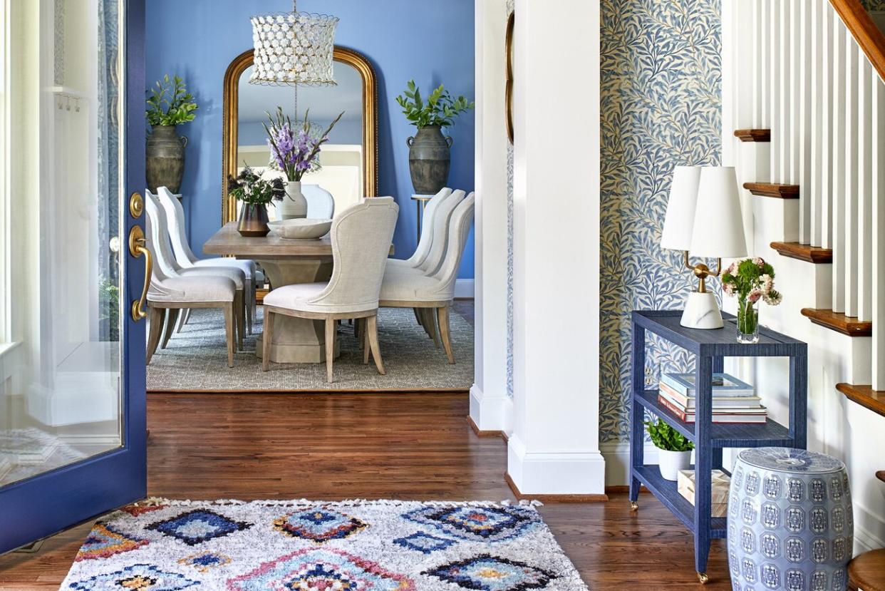
[(280, 204), (280, 218), (292, 220), (307, 217), (307, 199), (301, 192), (301, 179), (305, 174), (319, 170), (319, 149), (329, 141), (329, 133), (335, 123), (344, 116), (342, 111), (335, 121), (318, 134), (308, 116), (311, 110), (304, 113), (304, 122), (300, 128), (292, 126), (288, 116), (282, 114), (282, 107), (277, 107), (276, 116), (267, 113), (270, 127), (265, 124), (267, 147), (271, 151), (270, 167), (286, 175), (286, 196)]

